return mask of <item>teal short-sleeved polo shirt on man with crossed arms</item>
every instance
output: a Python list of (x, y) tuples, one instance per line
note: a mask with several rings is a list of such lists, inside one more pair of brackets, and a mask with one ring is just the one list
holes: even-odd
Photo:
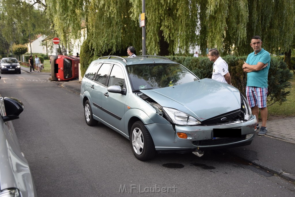
[(260, 70), (260, 71), (252, 71), (247, 73), (247, 86), (255, 86), (255, 87), (268, 87), (268, 70), (271, 65), (271, 56), (269, 53), (263, 48), (259, 53), (255, 54), (255, 52), (250, 53), (247, 57), (246, 63), (250, 65), (256, 65), (258, 62), (262, 62), (263, 64), (268, 63), (268, 65)]

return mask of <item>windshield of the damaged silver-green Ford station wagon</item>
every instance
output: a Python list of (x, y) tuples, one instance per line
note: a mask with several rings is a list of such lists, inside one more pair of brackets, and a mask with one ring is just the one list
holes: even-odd
[(157, 89), (199, 80), (180, 64), (139, 64), (127, 66), (132, 90)]

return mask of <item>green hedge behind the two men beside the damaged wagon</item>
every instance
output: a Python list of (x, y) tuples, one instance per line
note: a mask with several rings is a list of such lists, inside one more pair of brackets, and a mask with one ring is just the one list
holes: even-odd
[[(199, 57), (183, 57), (183, 56), (167, 56), (173, 61), (182, 64), (186, 68), (190, 69), (194, 74), (196, 74), (200, 79), (211, 78), (213, 62), (210, 62), (208, 58)], [(242, 94), (245, 95), (245, 88), (247, 84), (247, 74), (243, 71), (242, 65), (246, 61), (247, 56), (224, 56), (222, 57), (229, 66), (229, 72), (232, 79), (232, 85), (240, 90)], [(273, 103), (281, 104), (286, 101), (287, 95), (290, 94), (288, 89), (291, 84), (292, 74), (287, 68), (287, 65), (281, 57), (271, 57), (271, 66), (268, 71), (268, 103), (272, 105)]]

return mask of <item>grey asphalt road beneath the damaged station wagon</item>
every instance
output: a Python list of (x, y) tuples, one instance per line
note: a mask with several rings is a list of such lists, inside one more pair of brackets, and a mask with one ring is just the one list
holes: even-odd
[(79, 95), (48, 78), (23, 72), (0, 79), (1, 96), (24, 104), (13, 124), (38, 196), (294, 196), (294, 185), (228, 152), (141, 162), (119, 133), (87, 126)]

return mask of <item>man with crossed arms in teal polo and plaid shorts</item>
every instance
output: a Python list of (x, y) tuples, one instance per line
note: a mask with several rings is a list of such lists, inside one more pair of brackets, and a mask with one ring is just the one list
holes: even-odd
[[(265, 135), (267, 132), (267, 87), (268, 87), (268, 70), (270, 66), (271, 56), (269, 53), (261, 48), (262, 41), (259, 36), (254, 36), (251, 39), (250, 46), (254, 52), (248, 55), (246, 62), (243, 64), (243, 70), (247, 73), (246, 96), (250, 104), (252, 113), (258, 119), (260, 115), (262, 125), (258, 135)], [(257, 124), (256, 128), (259, 128)]]

